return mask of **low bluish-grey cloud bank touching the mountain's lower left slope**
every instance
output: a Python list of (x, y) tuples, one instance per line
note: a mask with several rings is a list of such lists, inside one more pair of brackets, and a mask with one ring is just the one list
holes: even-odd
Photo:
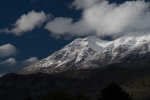
[(9, 58), (6, 61), (0, 62), (0, 75), (2, 76), (7, 73), (16, 73), (22, 68), (32, 65), (38, 61), (39, 59), (36, 57), (31, 57), (21, 62), (16, 61), (14, 58)]

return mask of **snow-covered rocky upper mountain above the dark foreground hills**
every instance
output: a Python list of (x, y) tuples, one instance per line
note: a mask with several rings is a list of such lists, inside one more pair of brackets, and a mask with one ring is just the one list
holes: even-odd
[(72, 69), (102, 68), (133, 55), (150, 52), (150, 32), (130, 33), (114, 41), (96, 36), (77, 38), (49, 57), (26, 67), (19, 74), (57, 73)]

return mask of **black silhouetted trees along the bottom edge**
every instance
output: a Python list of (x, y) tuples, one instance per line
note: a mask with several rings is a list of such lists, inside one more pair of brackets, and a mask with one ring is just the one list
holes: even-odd
[[(30, 94), (24, 100), (33, 100)], [(72, 95), (66, 90), (59, 89), (43, 95), (41, 100), (90, 100), (83, 94)], [(117, 83), (111, 83), (101, 91), (97, 100), (132, 100), (129, 93), (123, 90)]]

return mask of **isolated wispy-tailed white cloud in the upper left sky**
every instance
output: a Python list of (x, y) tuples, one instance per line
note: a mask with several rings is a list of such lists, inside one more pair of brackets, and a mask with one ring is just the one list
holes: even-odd
[(13, 25), (14, 28), (9, 30), (1, 29), (0, 32), (13, 33), (15, 35), (22, 35), (24, 32), (32, 31), (36, 27), (40, 27), (45, 21), (50, 19), (51, 15), (46, 15), (43, 11), (30, 11), (28, 14), (23, 14)]

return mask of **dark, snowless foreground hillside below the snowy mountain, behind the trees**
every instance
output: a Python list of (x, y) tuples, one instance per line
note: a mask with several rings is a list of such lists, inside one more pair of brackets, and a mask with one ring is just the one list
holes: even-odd
[(111, 82), (118, 83), (129, 92), (133, 100), (150, 100), (150, 69), (129, 70), (112, 66), (65, 71), (55, 75), (5, 75), (0, 78), (0, 98), (21, 100), (30, 93), (34, 100), (40, 100), (43, 94), (61, 88), (71, 94), (82, 93), (91, 100), (97, 100), (102, 88)]

